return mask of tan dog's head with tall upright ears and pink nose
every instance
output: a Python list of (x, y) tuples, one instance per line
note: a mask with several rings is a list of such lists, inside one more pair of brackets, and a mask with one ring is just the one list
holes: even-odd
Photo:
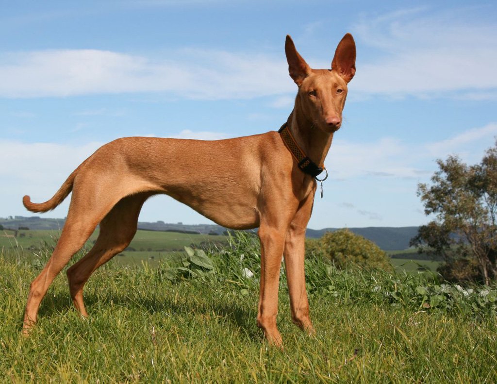
[(355, 42), (347, 33), (338, 43), (331, 69), (312, 69), (287, 35), (285, 53), (290, 77), (299, 87), (298, 102), (305, 117), (325, 132), (335, 132), (342, 122), (347, 84), (355, 74)]

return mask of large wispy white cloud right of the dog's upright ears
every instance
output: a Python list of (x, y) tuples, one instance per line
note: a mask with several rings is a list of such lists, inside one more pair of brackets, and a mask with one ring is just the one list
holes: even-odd
[(354, 91), (495, 99), (497, 25), (481, 14), (407, 9), (368, 15), (354, 29), (358, 41), (383, 55), (358, 62)]

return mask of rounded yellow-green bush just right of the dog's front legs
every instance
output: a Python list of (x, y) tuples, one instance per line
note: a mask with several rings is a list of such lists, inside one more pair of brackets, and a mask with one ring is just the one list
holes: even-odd
[(356, 265), (392, 270), (385, 251), (348, 229), (327, 232), (319, 240), (308, 240), (306, 253), (310, 257), (328, 259), (341, 269)]

